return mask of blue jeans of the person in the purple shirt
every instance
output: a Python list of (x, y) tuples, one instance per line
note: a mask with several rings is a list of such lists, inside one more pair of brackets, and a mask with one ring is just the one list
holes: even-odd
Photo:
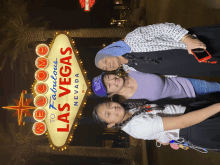
[(187, 78), (196, 93), (196, 96), (205, 95), (213, 92), (220, 92), (220, 83), (218, 82), (209, 82), (205, 80)]

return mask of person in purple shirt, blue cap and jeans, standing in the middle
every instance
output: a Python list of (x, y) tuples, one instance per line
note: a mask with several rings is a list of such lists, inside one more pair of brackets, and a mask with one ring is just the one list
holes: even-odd
[(107, 97), (118, 94), (125, 99), (195, 98), (220, 91), (220, 84), (205, 80), (173, 77), (162, 78), (155, 74), (138, 71), (105, 73), (93, 79), (92, 87), (97, 96)]

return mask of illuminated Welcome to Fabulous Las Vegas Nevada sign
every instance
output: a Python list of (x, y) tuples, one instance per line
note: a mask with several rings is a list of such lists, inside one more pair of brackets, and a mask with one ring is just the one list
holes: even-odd
[[(36, 126), (36, 122), (33, 132), (38, 135), (47, 129), (51, 146), (62, 150), (66, 148), (76, 119), (81, 115), (86, 97), (91, 93), (86, 71), (74, 48), (74, 41), (69, 39), (67, 33), (57, 32), (50, 50), (45, 44), (37, 46), (39, 57), (35, 65), (39, 69), (35, 73), (36, 82), (33, 85), (34, 104), (37, 107), (34, 118), (44, 119), (37, 120), (39, 126)], [(42, 123), (45, 123), (46, 128)]]

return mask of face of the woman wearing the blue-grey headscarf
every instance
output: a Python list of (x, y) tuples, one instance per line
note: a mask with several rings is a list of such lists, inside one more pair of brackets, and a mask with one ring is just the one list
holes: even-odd
[(113, 71), (120, 67), (120, 60), (118, 57), (105, 57), (98, 62), (98, 67), (101, 70)]

